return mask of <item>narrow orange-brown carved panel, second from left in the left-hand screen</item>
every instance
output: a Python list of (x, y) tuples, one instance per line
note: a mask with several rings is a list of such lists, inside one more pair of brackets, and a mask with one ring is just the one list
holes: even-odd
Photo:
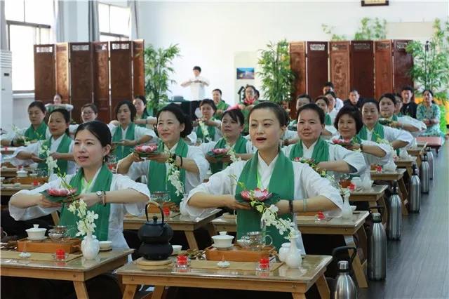
[(62, 96), (62, 102), (69, 99), (69, 45), (56, 44), (56, 92)]

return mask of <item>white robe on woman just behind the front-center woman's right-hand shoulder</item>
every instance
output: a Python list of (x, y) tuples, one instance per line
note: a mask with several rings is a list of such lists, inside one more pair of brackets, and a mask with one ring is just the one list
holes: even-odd
[[(316, 145), (316, 140), (309, 148), (307, 148), (304, 144), (302, 144), (302, 157), (305, 159), (311, 159), (311, 155), (314, 152), (314, 148)], [(290, 152), (293, 149), (294, 145), (288, 145), (288, 147), (283, 147), (283, 153), (286, 157), (290, 157)], [(356, 169), (354, 174), (363, 173), (366, 169), (365, 159), (363, 159), (363, 155), (359, 152), (352, 152), (350, 150), (345, 149), (341, 145), (333, 145), (329, 143), (329, 159), (328, 161), (340, 161), (343, 160), (350, 166)]]

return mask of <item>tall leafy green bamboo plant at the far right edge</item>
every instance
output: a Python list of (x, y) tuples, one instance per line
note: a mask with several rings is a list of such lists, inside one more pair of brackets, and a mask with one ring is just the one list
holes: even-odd
[(406, 50), (413, 55), (410, 74), (418, 89), (434, 92), (434, 100), (441, 110), (441, 131), (445, 133), (449, 105), (449, 22), (441, 24), (441, 20), (435, 19), (431, 39), (425, 43), (411, 41)]

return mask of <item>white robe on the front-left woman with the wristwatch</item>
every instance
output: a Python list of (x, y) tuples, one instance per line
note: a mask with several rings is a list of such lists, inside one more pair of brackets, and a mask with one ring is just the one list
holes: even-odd
[[(95, 174), (95, 178), (97, 178), (98, 171)], [(67, 175), (66, 182), (70, 182), (70, 179), (73, 175)], [(94, 181), (93, 180), (93, 181)], [(91, 184), (93, 186), (94, 183)], [(45, 190), (50, 188), (60, 188), (61, 179), (58, 178), (51, 182), (48, 182), (41, 187), (38, 187), (34, 190), (21, 190), (16, 194), (39, 194)], [(111, 182), (111, 190), (126, 190), (133, 189), (137, 192), (145, 194), (149, 199), (149, 191), (147, 185), (141, 184), (139, 182), (133, 182), (130, 178), (127, 178), (125, 175), (114, 174), (112, 176)], [(126, 199), (123, 199), (126, 200)], [(123, 216), (126, 213), (130, 213), (132, 215), (143, 215), (145, 212), (145, 204), (146, 202), (139, 202), (133, 204), (111, 204), (111, 211), (109, 213), (109, 231), (108, 231), (108, 239), (112, 241), (112, 247), (114, 248), (129, 248), (128, 244), (126, 244), (125, 237), (123, 237)], [(29, 220), (38, 218), (44, 215), (48, 215), (53, 213), (54, 211), (60, 211), (60, 208), (41, 208), (40, 206), (31, 206), (29, 208), (18, 208), (16, 206), (11, 205), (11, 201), (9, 202), (9, 213), (11, 217), (15, 220)], [(95, 234), (95, 233), (94, 233)]]

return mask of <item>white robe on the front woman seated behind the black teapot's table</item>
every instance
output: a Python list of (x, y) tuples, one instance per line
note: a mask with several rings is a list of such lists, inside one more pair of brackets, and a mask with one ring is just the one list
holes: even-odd
[[(272, 163), (267, 165), (259, 155), (257, 173), (260, 174), (260, 182), (263, 189), (267, 189), (269, 186), (269, 181), (272, 178), (274, 166), (276, 165), (276, 159), (278, 159), (278, 157), (279, 156), (276, 156)], [(208, 213), (215, 209), (196, 208), (189, 205), (189, 199), (192, 198), (194, 194), (199, 192), (213, 195), (230, 194), (235, 196), (236, 182), (232, 179), (232, 176), (235, 178), (240, 178), (243, 167), (246, 163), (248, 163), (248, 161), (234, 162), (225, 170), (210, 176), (208, 182), (204, 182), (192, 190), (189, 193), (187, 200), (183, 200), (181, 202), (182, 213), (188, 213), (191, 217), (196, 218), (201, 217), (203, 213)], [(333, 203), (337, 206), (337, 208), (333, 211), (326, 211), (325, 213), (327, 215), (330, 217), (340, 217), (340, 215), (342, 215), (342, 197), (340, 197), (340, 192), (338, 192), (338, 190), (330, 184), (329, 180), (321, 178), (319, 174), (316, 173), (310, 166), (299, 162), (293, 162), (293, 175), (293, 182), (295, 182), (293, 195), (294, 199), (307, 199), (321, 195), (330, 201), (333, 201)], [(299, 243), (302, 253), (305, 253), (304, 246), (302, 246), (302, 241)]]

